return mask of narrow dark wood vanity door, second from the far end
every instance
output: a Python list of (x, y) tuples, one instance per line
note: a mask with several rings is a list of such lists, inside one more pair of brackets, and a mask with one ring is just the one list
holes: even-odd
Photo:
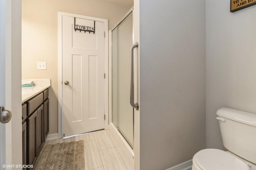
[(37, 115), (37, 153), (39, 154), (44, 143), (44, 105), (37, 109)]

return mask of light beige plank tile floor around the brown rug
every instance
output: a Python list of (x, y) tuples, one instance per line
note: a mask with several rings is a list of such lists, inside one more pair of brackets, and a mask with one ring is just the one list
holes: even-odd
[[(48, 140), (44, 146), (74, 140), (84, 140), (85, 170), (133, 170), (114, 141), (110, 130), (100, 130), (65, 139)], [(39, 159), (40, 155), (38, 156)]]

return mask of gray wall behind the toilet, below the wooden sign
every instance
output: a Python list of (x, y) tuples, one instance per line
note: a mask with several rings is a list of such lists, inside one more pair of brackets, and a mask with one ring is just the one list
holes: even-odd
[(216, 111), (256, 113), (256, 6), (206, 0), (206, 147), (224, 149)]

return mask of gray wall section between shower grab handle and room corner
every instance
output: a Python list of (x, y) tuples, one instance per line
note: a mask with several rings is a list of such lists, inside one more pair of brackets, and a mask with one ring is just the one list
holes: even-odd
[(205, 148), (205, 0), (140, 0), (140, 169)]

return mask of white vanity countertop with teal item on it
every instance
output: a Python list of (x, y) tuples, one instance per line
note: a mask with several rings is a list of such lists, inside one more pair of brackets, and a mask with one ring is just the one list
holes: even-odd
[(22, 87), (22, 103), (51, 86), (51, 79), (22, 79), (22, 84), (34, 81), (34, 87)]

